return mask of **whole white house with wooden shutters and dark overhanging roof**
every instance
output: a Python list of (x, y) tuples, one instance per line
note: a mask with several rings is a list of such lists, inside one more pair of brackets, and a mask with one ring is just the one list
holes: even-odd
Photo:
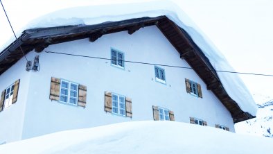
[(29, 28), (1, 51), (0, 66), (0, 143), (143, 120), (235, 132), (255, 117), (167, 15)]

